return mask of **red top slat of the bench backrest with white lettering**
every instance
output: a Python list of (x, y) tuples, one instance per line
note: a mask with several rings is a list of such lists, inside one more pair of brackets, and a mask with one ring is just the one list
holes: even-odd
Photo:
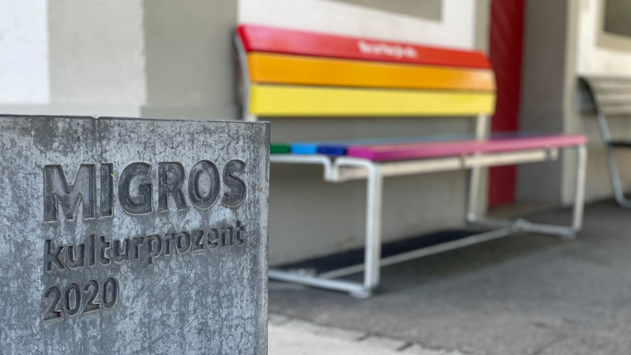
[(247, 52), (335, 57), (466, 68), (491, 68), (480, 51), (458, 51), (418, 44), (326, 35), (258, 25), (241, 25), (237, 32)]

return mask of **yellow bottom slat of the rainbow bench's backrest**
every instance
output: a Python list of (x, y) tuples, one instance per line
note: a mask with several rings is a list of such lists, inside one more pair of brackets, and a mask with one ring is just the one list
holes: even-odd
[(473, 116), (493, 114), (493, 92), (449, 92), (254, 84), (257, 116)]

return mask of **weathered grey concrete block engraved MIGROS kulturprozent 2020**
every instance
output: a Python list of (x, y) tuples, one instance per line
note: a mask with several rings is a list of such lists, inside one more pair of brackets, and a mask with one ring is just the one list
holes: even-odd
[(261, 123), (0, 116), (0, 353), (265, 354), (268, 143)]

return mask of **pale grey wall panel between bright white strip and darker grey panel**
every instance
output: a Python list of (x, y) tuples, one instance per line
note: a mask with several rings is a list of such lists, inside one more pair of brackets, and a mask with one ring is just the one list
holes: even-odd
[(143, 1), (51, 0), (53, 102), (143, 104)]

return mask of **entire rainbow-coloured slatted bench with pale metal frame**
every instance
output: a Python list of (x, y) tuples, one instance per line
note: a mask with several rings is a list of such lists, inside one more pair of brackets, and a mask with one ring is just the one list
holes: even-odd
[[(273, 144), (270, 162), (319, 164), (324, 179), (339, 183), (367, 179), (365, 262), (326, 275), (269, 270), (270, 279), (297, 282), (369, 297), (383, 265), (430, 255), (516, 231), (574, 238), (581, 229), (586, 167), (583, 135), (504, 135), (488, 138), (495, 109), (495, 78), (481, 52), (456, 51), (375, 39), (242, 25), (235, 42), (243, 78), (243, 119), (278, 116), (467, 116), (467, 136), (383, 138)], [(577, 149), (572, 225), (550, 226), (522, 219), (489, 219), (475, 213), (481, 169), (557, 159), (562, 148)], [(465, 239), (381, 258), (381, 202), (384, 177), (469, 169), (471, 223), (497, 226)], [(363, 271), (363, 282), (340, 280)]]

